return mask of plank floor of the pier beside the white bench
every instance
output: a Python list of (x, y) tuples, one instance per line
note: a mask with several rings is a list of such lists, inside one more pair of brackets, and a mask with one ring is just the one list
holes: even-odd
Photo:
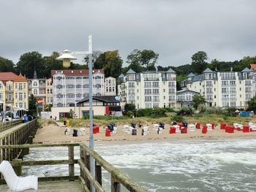
[[(0, 185), (0, 191), (8, 191), (9, 188), (7, 185)], [(32, 192), (34, 190), (27, 190), (26, 192)], [(80, 182), (77, 181), (48, 181), (48, 182), (39, 182), (37, 192), (82, 192), (83, 187)]]

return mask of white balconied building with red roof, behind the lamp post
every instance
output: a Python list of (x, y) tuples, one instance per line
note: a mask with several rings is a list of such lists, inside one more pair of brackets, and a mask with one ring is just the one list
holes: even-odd
[[(52, 70), (53, 107), (75, 107), (78, 101), (89, 96), (89, 70)], [(93, 70), (93, 95), (105, 94), (102, 69)]]

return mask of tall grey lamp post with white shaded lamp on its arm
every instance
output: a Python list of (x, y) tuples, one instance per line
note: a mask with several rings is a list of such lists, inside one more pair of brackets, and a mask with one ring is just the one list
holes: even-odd
[[(88, 51), (75, 51), (70, 53), (69, 50), (64, 50), (57, 60), (63, 61), (64, 67), (70, 66), (70, 61), (76, 58), (71, 54), (76, 55), (89, 55), (89, 119), (90, 119), (90, 137), (89, 137), (89, 147), (94, 149), (94, 135), (93, 135), (93, 120), (92, 120), (92, 42), (91, 35), (89, 36), (89, 50)], [(94, 158), (90, 155), (90, 170), (94, 177)], [(95, 191), (94, 186), (91, 183), (91, 191)]]

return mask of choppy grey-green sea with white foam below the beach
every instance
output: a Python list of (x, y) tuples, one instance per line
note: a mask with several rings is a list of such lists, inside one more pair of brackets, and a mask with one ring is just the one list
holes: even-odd
[[(256, 139), (95, 142), (94, 150), (151, 192), (256, 191)], [(67, 147), (33, 148), (24, 161), (44, 159), (67, 159)], [(79, 172), (75, 166), (75, 174)], [(68, 166), (24, 166), (23, 173), (68, 175)], [(110, 191), (110, 174), (104, 169), (102, 183)]]

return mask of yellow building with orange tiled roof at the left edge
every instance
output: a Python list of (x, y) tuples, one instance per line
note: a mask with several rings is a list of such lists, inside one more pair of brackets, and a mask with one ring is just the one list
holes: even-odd
[(0, 72), (0, 112), (29, 109), (26, 77), (13, 72)]

